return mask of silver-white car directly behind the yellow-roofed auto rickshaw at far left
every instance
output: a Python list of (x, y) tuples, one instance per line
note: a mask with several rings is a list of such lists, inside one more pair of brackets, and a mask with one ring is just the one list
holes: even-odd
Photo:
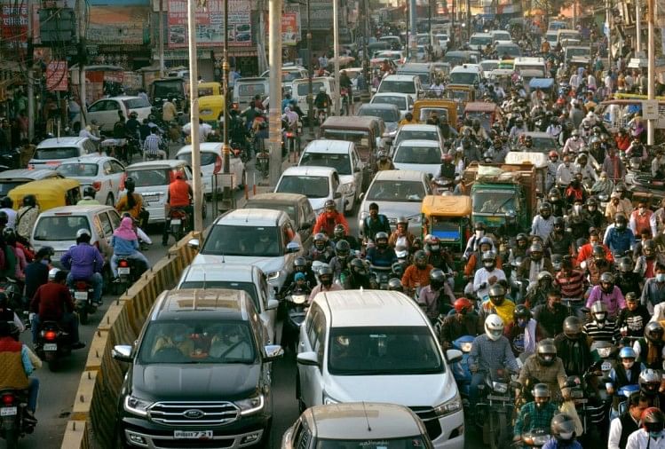
[(109, 156), (86, 155), (62, 161), (56, 171), (81, 183), (81, 190), (91, 185), (97, 191), (95, 199), (101, 204), (115, 206), (124, 178), (124, 166)]

